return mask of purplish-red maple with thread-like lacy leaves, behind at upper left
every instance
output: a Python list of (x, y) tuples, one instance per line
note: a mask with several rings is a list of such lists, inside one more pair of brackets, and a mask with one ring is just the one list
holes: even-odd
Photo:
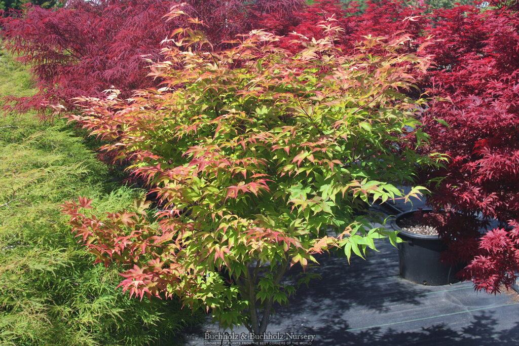
[[(102, 97), (115, 86), (123, 94), (156, 86), (147, 78), (142, 56), (160, 59), (160, 43), (183, 20), (164, 16), (175, 2), (169, 0), (70, 0), (64, 8), (47, 10), (29, 5), (18, 16), (0, 18), (7, 49), (31, 64), (38, 93), (13, 99), (18, 110), (73, 107), (78, 96)], [(253, 29), (263, 13), (276, 9), (280, 16), (301, 6), (300, 0), (185, 0), (184, 11), (203, 24), (190, 23), (206, 33), (213, 44), (234, 39)], [(288, 15), (287, 15), (288, 16)], [(62, 108), (58, 109), (62, 110)]]

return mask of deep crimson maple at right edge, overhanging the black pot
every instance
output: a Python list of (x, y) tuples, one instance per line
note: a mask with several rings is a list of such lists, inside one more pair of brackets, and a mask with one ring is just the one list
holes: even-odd
[(484, 236), (474, 232), (477, 223), (459, 218), (440, 227), (451, 244), (448, 257), (469, 262), (463, 278), (495, 293), (513, 283), (519, 262), (519, 16), (470, 6), (439, 15), (430, 29), (441, 40), (429, 47), (440, 67), (431, 71), (430, 93), (443, 101), (431, 104), (428, 120), (449, 127), (429, 121), (427, 132), (430, 150), (451, 160), (424, 175), (445, 177), (429, 202), (500, 222)]

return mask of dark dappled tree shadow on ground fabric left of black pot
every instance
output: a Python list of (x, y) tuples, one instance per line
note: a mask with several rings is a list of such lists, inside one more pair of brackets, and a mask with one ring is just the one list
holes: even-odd
[[(297, 289), (288, 307), (277, 307), (272, 323), (294, 313), (324, 310), (327, 319), (339, 317), (351, 307), (365, 307), (374, 312), (388, 312), (390, 303), (422, 305), (424, 294), (433, 292), (431, 286), (416, 285), (400, 279), (398, 251), (389, 243), (381, 243), (380, 253), (373, 253), (367, 260), (322, 255), (320, 265), (309, 269), (321, 275), (308, 286)], [(292, 269), (289, 275), (297, 276), (301, 270)], [(334, 316), (337, 314), (337, 316)]]

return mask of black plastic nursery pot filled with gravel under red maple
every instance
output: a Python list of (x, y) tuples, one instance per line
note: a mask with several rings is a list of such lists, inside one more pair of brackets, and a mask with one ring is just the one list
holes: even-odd
[[(430, 212), (424, 209), (422, 212)], [(440, 260), (446, 245), (439, 236), (428, 236), (402, 230), (399, 221), (417, 212), (416, 210), (397, 215), (392, 220), (394, 230), (404, 243), (398, 244), (400, 275), (402, 278), (422, 285), (447, 285), (458, 282), (456, 273), (464, 265), (450, 266)]]

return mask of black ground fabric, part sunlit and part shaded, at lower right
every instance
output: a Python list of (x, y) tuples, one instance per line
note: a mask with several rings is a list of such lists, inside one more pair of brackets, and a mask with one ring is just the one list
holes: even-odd
[[(367, 260), (352, 258), (350, 265), (346, 258), (317, 257), (320, 265), (308, 270), (319, 273), (322, 279), (300, 287), (288, 306), (276, 307), (269, 330), (313, 334), (317, 336), (314, 344), (325, 346), (519, 344), (519, 323), (510, 328), (510, 321), (515, 321), (514, 308), (489, 308), (475, 313), (471, 309), (496, 302), (487, 295), (474, 296), (470, 283), (424, 286), (401, 279), (397, 249), (387, 242), (377, 244), (377, 248), (380, 253), (371, 254)], [(299, 273), (301, 268), (296, 266), (289, 271), (294, 277)], [(454, 310), (438, 308), (443, 303)], [(441, 320), (427, 321), (432, 318), (430, 309), (446, 315), (438, 316)], [(506, 315), (496, 319), (498, 313), (512, 315), (510, 319)], [(419, 322), (398, 322), (415, 318)], [(393, 322), (394, 325), (386, 325)], [(359, 324), (373, 327), (354, 328)], [(206, 326), (218, 330), (215, 325)], [(242, 327), (236, 331), (246, 332)], [(203, 335), (202, 330), (196, 335)]]

